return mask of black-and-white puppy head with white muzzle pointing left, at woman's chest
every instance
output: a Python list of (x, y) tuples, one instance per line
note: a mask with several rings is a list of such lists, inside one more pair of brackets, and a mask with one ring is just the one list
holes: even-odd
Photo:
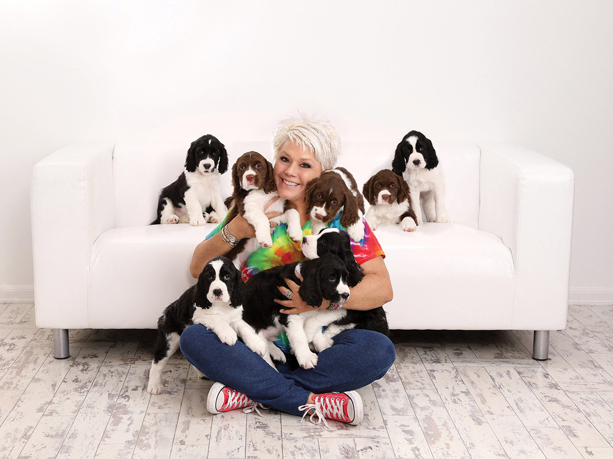
[(332, 253), (345, 263), (348, 271), (347, 283), (356, 286), (364, 273), (351, 250), (351, 239), (346, 231), (338, 228), (324, 228), (319, 234), (311, 234), (302, 238), (302, 253), (310, 259), (319, 258), (324, 253)]

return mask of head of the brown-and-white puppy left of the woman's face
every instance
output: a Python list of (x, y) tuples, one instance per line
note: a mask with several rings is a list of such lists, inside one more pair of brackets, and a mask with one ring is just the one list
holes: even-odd
[(255, 151), (246, 152), (232, 166), (232, 185), (235, 196), (241, 190), (276, 191), (272, 164)]

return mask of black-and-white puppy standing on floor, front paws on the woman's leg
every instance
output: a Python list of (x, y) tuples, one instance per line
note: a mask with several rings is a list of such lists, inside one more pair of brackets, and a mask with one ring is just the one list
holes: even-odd
[[(213, 330), (219, 340), (229, 346), (240, 337), (249, 349), (263, 356), (267, 343), (242, 319), (244, 299), (245, 284), (234, 264), (223, 256), (209, 261), (196, 285), (167, 306), (158, 319), (158, 341), (147, 392), (162, 393), (162, 372), (166, 362), (177, 351), (181, 333), (191, 324), (202, 324)], [(202, 373), (198, 373), (202, 378)]]

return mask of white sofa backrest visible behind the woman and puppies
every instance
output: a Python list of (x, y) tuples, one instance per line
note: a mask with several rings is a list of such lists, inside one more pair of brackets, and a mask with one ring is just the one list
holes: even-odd
[[(229, 170), (221, 176), (224, 198), (232, 194), (230, 169), (247, 151), (273, 159), (271, 142), (222, 142), (229, 156)], [(162, 188), (183, 171), (191, 141), (176, 143), (118, 143), (113, 158), (115, 181), (115, 228), (148, 225), (156, 218)], [(396, 144), (346, 142), (338, 165), (347, 168), (360, 187), (381, 169), (390, 169)], [(476, 144), (435, 143), (443, 166), (447, 212), (452, 222), (478, 228), (479, 148)], [(368, 204), (367, 204), (368, 208)]]

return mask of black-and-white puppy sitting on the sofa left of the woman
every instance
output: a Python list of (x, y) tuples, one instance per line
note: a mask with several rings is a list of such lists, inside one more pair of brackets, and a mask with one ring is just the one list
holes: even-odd
[(158, 218), (151, 225), (183, 223), (185, 215), (192, 226), (219, 223), (227, 213), (221, 197), (221, 174), (227, 168), (226, 147), (215, 136), (207, 134), (194, 140), (185, 169), (159, 193)]

